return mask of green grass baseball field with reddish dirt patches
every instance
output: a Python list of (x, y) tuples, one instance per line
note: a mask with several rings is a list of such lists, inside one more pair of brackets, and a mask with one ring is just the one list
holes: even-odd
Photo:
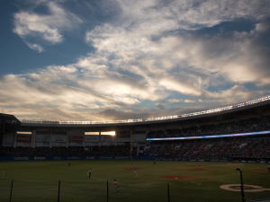
[[(70, 166), (67, 163), (71, 162)], [(223, 184), (238, 184), (236, 168), (243, 169), (245, 184), (270, 189), (266, 164), (237, 162), (157, 162), (150, 161), (61, 161), (0, 162), (0, 201), (8, 202), (14, 180), (13, 202), (106, 202), (109, 180), (110, 202), (166, 202), (167, 184), (171, 202), (241, 201), (239, 192), (220, 189)], [(134, 171), (127, 168), (137, 168)], [(91, 179), (87, 170), (92, 169)], [(2, 179), (6, 171), (7, 180)], [(189, 176), (189, 180), (167, 180), (163, 176)], [(180, 177), (179, 177), (180, 178)], [(119, 182), (115, 193), (112, 180)], [(248, 200), (270, 198), (270, 190), (246, 193)]]

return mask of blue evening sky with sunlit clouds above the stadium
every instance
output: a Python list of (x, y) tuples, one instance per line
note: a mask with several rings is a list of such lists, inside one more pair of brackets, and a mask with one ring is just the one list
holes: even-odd
[(175, 115), (269, 94), (269, 0), (3, 0), (0, 108)]

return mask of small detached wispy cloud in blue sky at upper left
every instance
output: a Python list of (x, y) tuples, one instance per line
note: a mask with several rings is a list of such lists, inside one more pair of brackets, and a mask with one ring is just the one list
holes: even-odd
[(39, 44), (31, 41), (43, 40), (56, 44), (64, 40), (61, 31), (72, 29), (81, 20), (75, 14), (65, 11), (53, 1), (38, 1), (36, 6), (45, 6), (49, 13), (39, 14), (29, 11), (20, 11), (14, 14), (14, 33), (18, 34), (29, 48), (43, 51)]

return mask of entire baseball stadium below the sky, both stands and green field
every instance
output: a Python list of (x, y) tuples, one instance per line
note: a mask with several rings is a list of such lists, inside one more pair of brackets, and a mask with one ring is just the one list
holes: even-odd
[(0, 201), (269, 202), (269, 100), (103, 122), (0, 114)]

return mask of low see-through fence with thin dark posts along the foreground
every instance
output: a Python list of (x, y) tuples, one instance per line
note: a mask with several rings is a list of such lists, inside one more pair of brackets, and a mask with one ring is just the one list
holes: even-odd
[[(233, 188), (239, 189), (239, 188)], [(245, 188), (248, 189), (248, 188)], [(269, 198), (270, 190), (248, 192), (246, 201)], [(214, 181), (0, 180), (0, 202), (230, 202), (241, 193), (220, 189)]]

